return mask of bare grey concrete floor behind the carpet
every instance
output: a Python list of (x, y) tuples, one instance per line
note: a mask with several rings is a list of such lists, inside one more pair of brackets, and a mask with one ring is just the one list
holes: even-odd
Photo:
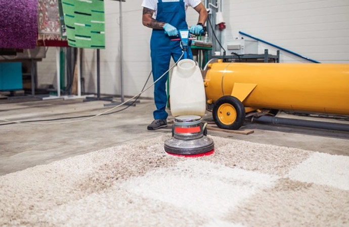
[[(0, 119), (23, 121), (93, 115), (110, 108), (103, 107), (104, 103), (106, 102), (82, 102), (81, 99), (20, 102), (3, 100), (0, 101)], [(153, 108), (152, 100), (141, 100), (136, 107), (74, 124), (0, 125), (0, 175), (170, 133), (170, 127), (156, 131), (146, 129), (153, 120)], [(210, 113), (206, 118), (210, 118), (209, 116)], [(65, 121), (72, 120), (55, 123)], [(349, 155), (349, 133), (250, 123), (246, 123), (244, 127), (253, 129), (254, 134), (244, 136), (209, 131), (209, 135)]]

